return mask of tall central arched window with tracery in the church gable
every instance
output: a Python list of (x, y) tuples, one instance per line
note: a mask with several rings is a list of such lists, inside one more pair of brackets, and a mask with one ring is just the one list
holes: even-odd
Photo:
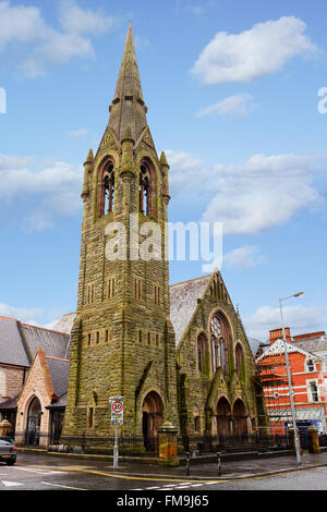
[(226, 318), (217, 313), (210, 324), (211, 330), (211, 356), (213, 371), (221, 367), (223, 375), (227, 374), (228, 344), (230, 338), (230, 328)]

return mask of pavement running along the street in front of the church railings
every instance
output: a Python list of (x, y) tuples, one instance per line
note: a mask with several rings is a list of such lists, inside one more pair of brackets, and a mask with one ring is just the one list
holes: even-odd
[[(22, 450), (25, 451), (25, 450)], [(27, 450), (26, 450), (27, 451)], [(37, 450), (35, 450), (37, 452)], [(45, 454), (45, 451), (43, 451)], [(53, 452), (49, 455), (55, 455)], [(63, 454), (56, 453), (58, 458), (64, 456), (74, 460), (83, 459), (85, 462), (93, 460), (102, 460), (111, 462), (112, 458), (99, 455), (84, 455), (84, 454)], [(171, 478), (171, 479), (192, 479), (192, 480), (234, 480), (246, 479), (253, 477), (264, 477), (279, 475), (294, 471), (311, 470), (314, 467), (327, 466), (327, 448), (322, 448), (320, 453), (308, 453), (303, 451), (301, 455), (301, 464), (298, 464), (295, 453), (291, 451), (284, 452), (265, 452), (265, 453), (233, 453), (232, 456), (221, 456), (220, 474), (216, 458), (209, 459), (190, 459), (190, 470), (185, 465), (185, 460), (178, 467), (165, 467), (146, 459), (141, 462), (136, 458), (120, 458), (117, 474), (126, 474), (130, 476), (140, 477), (156, 477), (156, 478)], [(204, 461), (204, 462), (203, 462)], [(146, 463), (145, 463), (146, 462)], [(107, 466), (108, 467), (108, 466)]]

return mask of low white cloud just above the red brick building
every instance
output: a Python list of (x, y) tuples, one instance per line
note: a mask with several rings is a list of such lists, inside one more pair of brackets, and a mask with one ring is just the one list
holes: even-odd
[[(283, 316), (286, 325), (291, 328), (291, 336), (325, 330), (327, 306), (284, 306)], [(244, 317), (243, 324), (247, 336), (266, 341), (269, 338), (269, 330), (281, 326), (279, 307), (262, 306), (252, 315)]]

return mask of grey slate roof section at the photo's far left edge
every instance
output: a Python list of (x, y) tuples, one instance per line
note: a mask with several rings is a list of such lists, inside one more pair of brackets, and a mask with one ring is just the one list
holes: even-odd
[(0, 317), (0, 363), (29, 367), (17, 320)]

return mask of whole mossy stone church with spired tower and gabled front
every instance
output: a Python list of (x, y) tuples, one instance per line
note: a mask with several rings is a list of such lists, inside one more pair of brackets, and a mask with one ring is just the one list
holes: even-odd
[[(126, 258), (114, 245), (121, 225), (129, 235), (131, 215), (138, 233), (149, 221), (165, 232), (170, 199), (169, 164), (147, 124), (131, 25), (109, 112), (99, 148), (84, 163), (62, 439), (112, 436), (113, 395), (124, 397), (122, 435), (145, 446), (167, 420), (184, 437), (251, 434), (264, 417), (262, 390), (220, 272), (169, 285), (165, 257), (132, 257), (129, 236)], [(107, 257), (108, 246), (116, 257)], [(159, 248), (166, 254), (164, 236)]]

